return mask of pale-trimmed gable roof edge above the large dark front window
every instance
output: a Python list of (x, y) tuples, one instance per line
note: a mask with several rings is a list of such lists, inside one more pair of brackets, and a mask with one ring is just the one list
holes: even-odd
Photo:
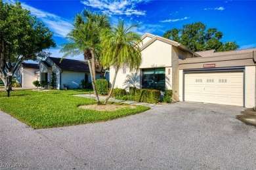
[(190, 50), (189, 48), (187, 48), (186, 46), (182, 45), (181, 43), (179, 42), (176, 42), (176, 41), (172, 41), (170, 39), (165, 39), (163, 37), (160, 37), (158, 35), (152, 35), (150, 33), (145, 33), (141, 39), (144, 39), (146, 37), (150, 37), (152, 39), (150, 39), (150, 41), (146, 42), (145, 44), (143, 44), (140, 49), (141, 50), (144, 50), (147, 46), (149, 46), (150, 44), (152, 44), (154, 41), (158, 40), (158, 41), (162, 41), (162, 42), (165, 42), (167, 44), (171, 44), (173, 46), (177, 46), (178, 48), (181, 48), (182, 50), (186, 50), (187, 52), (190, 52), (191, 54), (194, 54), (196, 57), (201, 57), (200, 54), (197, 54), (196, 52), (193, 52), (192, 50)]

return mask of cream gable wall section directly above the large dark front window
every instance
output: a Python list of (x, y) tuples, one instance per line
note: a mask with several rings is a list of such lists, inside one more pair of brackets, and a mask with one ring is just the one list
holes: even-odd
[(156, 40), (141, 52), (140, 69), (171, 67), (171, 44)]

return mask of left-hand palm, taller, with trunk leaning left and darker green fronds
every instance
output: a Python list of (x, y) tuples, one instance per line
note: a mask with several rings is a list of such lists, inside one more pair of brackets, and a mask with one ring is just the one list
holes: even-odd
[(88, 61), (93, 91), (98, 105), (100, 105), (100, 100), (95, 86), (95, 60), (98, 59), (96, 54), (100, 54), (100, 32), (109, 27), (106, 14), (84, 10), (82, 14), (75, 16), (74, 29), (66, 37), (70, 42), (64, 44), (60, 50), (60, 52), (64, 52), (63, 58), (83, 54), (85, 60)]

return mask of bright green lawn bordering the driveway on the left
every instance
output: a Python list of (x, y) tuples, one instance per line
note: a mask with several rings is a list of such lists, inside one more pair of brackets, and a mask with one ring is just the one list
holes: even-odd
[(148, 110), (137, 106), (115, 111), (79, 109), (81, 105), (96, 103), (93, 99), (76, 97), (73, 94), (89, 93), (85, 90), (53, 90), (47, 92), (16, 90), (6, 97), (0, 91), (0, 109), (35, 129), (70, 126), (112, 120)]

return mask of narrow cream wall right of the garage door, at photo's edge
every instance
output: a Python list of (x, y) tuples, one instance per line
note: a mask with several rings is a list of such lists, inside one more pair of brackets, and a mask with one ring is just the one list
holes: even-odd
[(245, 67), (245, 107), (255, 107), (255, 66)]

